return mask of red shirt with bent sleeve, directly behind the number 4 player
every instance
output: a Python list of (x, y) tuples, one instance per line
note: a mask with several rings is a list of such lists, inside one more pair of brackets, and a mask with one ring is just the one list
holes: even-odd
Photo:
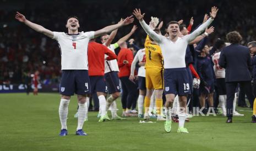
[(102, 76), (105, 70), (105, 54), (108, 55), (106, 60), (117, 59), (117, 55), (109, 50), (105, 45), (94, 41), (88, 44), (88, 66), (89, 75)]

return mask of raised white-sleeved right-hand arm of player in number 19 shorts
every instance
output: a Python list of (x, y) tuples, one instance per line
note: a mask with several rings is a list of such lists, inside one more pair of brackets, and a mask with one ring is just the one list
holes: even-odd
[(216, 7), (212, 7), (210, 13), (211, 18), (204, 22), (204, 24), (200, 25), (197, 30), (193, 31), (191, 34), (187, 34), (186, 36), (184, 36), (184, 38), (187, 39), (188, 43), (192, 42), (192, 40), (199, 36), (199, 34), (201, 34), (201, 32), (203, 32), (211, 24), (211, 22), (213, 22), (218, 10), (219, 9), (217, 9)]

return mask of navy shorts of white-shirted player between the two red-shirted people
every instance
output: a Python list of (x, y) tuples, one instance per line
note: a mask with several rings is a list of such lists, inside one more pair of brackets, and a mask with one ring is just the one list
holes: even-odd
[(105, 73), (105, 80), (106, 80), (108, 94), (121, 92), (117, 71)]

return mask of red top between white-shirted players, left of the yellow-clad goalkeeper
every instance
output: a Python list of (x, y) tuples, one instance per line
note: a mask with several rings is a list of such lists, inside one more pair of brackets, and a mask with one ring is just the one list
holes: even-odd
[[(127, 60), (128, 63), (124, 64), (123, 61)], [(117, 63), (119, 67), (118, 77), (130, 76), (130, 66), (133, 62), (133, 52), (128, 48), (122, 48), (117, 56)]]

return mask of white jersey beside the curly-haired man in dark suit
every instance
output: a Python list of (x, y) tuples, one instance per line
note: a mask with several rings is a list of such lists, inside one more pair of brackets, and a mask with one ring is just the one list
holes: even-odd
[(216, 53), (216, 54), (213, 55), (214, 72), (215, 72), (215, 75), (216, 75), (217, 79), (225, 78), (225, 68), (222, 68), (219, 65), (220, 53), (221, 52)]

